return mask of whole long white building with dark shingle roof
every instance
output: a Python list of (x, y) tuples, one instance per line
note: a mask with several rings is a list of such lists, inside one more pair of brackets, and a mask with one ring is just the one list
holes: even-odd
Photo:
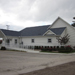
[(21, 31), (0, 29), (2, 45), (6, 48), (27, 48), (29, 46), (60, 46), (57, 37), (69, 34), (66, 45), (75, 46), (75, 29), (69, 23), (58, 17), (52, 25), (28, 27)]

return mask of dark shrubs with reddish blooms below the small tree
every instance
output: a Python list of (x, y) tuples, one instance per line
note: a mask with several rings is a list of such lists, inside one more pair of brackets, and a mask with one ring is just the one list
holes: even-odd
[(59, 53), (70, 53), (75, 52), (75, 50), (70, 46), (43, 46), (41, 52), (59, 52)]

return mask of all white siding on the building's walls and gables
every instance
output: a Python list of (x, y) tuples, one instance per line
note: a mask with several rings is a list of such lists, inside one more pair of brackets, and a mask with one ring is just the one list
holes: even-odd
[[(63, 37), (66, 34), (70, 35), (70, 40), (67, 45), (75, 46), (75, 29), (70, 26), (67, 22), (62, 20), (61, 18), (58, 18), (51, 26), (51, 28), (60, 28), (60, 27), (66, 27), (64, 32), (62, 33), (61, 37)], [(1, 33), (0, 33), (1, 34)], [(47, 34), (53, 34), (53, 32), (49, 31)], [(1, 34), (2, 36), (2, 34)], [(30, 36), (30, 37), (7, 37), (12, 39), (10, 41), (11, 47), (19, 47), (20, 43), (23, 42), (23, 45), (21, 46), (58, 46), (60, 45), (58, 43), (58, 40), (55, 36)], [(17, 39), (17, 44), (15, 44), (15, 39)], [(31, 39), (34, 39), (34, 43), (31, 42)], [(51, 43), (48, 43), (48, 39), (52, 39)], [(5, 43), (6, 38), (4, 38)]]

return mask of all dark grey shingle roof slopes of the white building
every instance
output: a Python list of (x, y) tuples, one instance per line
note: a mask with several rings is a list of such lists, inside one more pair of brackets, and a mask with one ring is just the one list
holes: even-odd
[[(21, 31), (12, 31), (0, 29), (6, 36), (42, 36), (50, 25), (25, 28)], [(50, 30), (56, 35), (61, 35), (66, 27), (51, 28)]]

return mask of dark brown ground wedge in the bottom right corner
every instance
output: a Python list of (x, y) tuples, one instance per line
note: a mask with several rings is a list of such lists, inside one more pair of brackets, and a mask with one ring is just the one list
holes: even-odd
[(19, 75), (75, 75), (75, 62), (23, 73)]

